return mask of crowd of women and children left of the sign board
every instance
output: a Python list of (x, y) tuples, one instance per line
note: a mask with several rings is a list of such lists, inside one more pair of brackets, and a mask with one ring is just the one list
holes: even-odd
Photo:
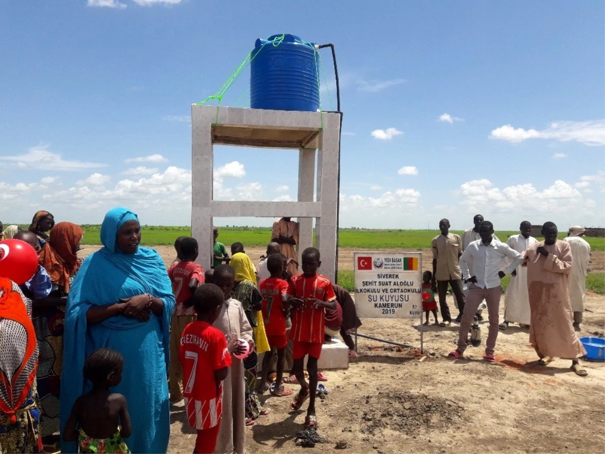
[(214, 229), (212, 268), (196, 263), (194, 238), (179, 237), (168, 272), (126, 208), (106, 213), (103, 247), (83, 262), (82, 228), (49, 212), (1, 232), (39, 260), (22, 285), (0, 277), (0, 376), (18, 371), (16, 386), (0, 383), (2, 453), (166, 453), (170, 406), (183, 400), (195, 453), (243, 453), (246, 426), (268, 413), (260, 395), (300, 384), (290, 409), (308, 400), (304, 426), (316, 429), (322, 345), (340, 333), (356, 355), (352, 297), (318, 273), (315, 248), (299, 273), (289, 218), (275, 222), (257, 267), (241, 243), (229, 255)]

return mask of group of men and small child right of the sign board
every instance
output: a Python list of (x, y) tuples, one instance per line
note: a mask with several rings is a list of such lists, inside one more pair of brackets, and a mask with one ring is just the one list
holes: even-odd
[[(485, 307), (489, 320), (486, 361), (495, 361), (499, 331), (518, 323), (529, 329), (529, 343), (540, 364), (546, 366), (555, 357), (569, 359), (571, 369), (577, 375), (586, 376), (587, 371), (578, 361), (586, 350), (576, 334), (584, 312), (590, 260), (590, 246), (581, 238), (584, 228), (572, 227), (561, 241), (557, 239), (557, 226), (547, 222), (541, 229), (544, 241), (538, 242), (531, 236), (531, 223), (523, 221), (520, 233), (502, 243), (494, 235), (492, 223), (483, 220), (482, 215), (477, 214), (473, 222), (474, 227), (460, 238), (450, 232), (449, 220), (440, 220), (441, 234), (431, 243), (433, 273), (424, 276), (425, 291), (439, 292), (441, 326), (450, 326), (452, 321), (445, 300), (448, 286), (456, 297), (459, 339), (448, 358), (463, 357), (471, 324), (482, 320), (481, 310)], [(499, 323), (501, 280), (506, 275), (511, 279), (505, 296), (504, 321)], [(436, 309), (431, 295), (423, 301), (427, 321), (428, 311)], [(433, 314), (437, 319), (436, 312)]]

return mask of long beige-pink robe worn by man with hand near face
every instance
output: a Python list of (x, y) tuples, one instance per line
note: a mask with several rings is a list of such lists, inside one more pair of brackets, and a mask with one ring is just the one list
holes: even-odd
[[(548, 257), (537, 249), (544, 246)], [(567, 281), (572, 267), (571, 248), (557, 240), (554, 245), (535, 243), (525, 254), (528, 267), (529, 343), (540, 358), (545, 356), (575, 360), (586, 351), (572, 325)]]

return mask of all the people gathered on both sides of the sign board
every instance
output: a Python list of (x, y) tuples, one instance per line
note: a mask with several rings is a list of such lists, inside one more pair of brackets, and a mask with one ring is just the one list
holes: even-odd
[[(486, 361), (495, 361), (499, 331), (518, 323), (529, 329), (540, 364), (569, 359), (577, 375), (587, 375), (576, 334), (590, 254), (583, 228), (561, 241), (547, 222), (538, 242), (524, 221), (506, 243), (481, 215), (462, 237), (447, 219), (439, 229), (433, 271), (423, 275), (423, 309), (425, 323), (431, 312), (439, 323), (437, 292), (439, 324), (460, 323), (449, 358), (463, 357), (469, 328), (486, 308)], [(355, 356), (351, 333), (361, 321), (351, 295), (318, 273), (318, 249), (304, 249), (299, 266), (295, 222), (274, 223), (257, 266), (240, 242), (230, 255), (215, 228), (206, 270), (196, 262), (197, 241), (178, 237), (167, 272), (154, 249), (140, 246), (139, 219), (126, 208), (106, 213), (103, 247), (81, 262), (83, 234), (73, 223), (55, 224), (47, 211), (36, 212), (28, 229), (2, 229), (2, 239), (28, 243), (39, 266), (22, 285), (0, 277), (0, 452), (165, 454), (170, 406), (184, 400), (197, 431), (194, 453), (243, 454), (246, 426), (269, 412), (264, 393), (292, 396), (293, 411), (308, 400), (304, 427), (319, 427), (322, 346), (340, 334)], [(511, 280), (499, 323), (505, 275)], [(292, 383), (300, 385), (295, 395)]]

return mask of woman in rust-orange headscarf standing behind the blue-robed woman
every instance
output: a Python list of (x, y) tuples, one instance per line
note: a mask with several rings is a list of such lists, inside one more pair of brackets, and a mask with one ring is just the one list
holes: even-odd
[(63, 327), (65, 304), (71, 281), (80, 268), (77, 251), (84, 231), (71, 222), (59, 222), (50, 231), (48, 242), (38, 255), (52, 284), (50, 295), (33, 302), (33, 323), (40, 348), (38, 395), (40, 398), (40, 435), (49, 452), (57, 452), (59, 432), (59, 392), (63, 366)]

